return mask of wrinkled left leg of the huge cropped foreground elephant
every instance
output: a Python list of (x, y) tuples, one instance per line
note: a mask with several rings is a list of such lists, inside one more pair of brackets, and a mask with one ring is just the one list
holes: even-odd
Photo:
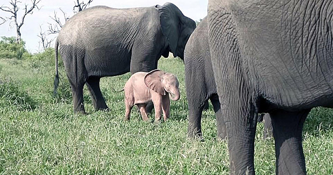
[[(238, 91), (239, 89), (241, 91)], [(250, 93), (244, 86), (220, 92), (221, 111), (227, 128), (230, 174), (254, 174), (254, 138), (257, 124), (255, 99), (248, 95)]]

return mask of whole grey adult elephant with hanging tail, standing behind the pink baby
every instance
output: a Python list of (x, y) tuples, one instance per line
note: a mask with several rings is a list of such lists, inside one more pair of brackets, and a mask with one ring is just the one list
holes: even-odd
[(169, 51), (183, 58), (185, 44), (195, 29), (172, 3), (138, 8), (94, 6), (78, 12), (61, 29), (55, 46), (58, 86), (58, 47), (69, 78), (74, 111), (85, 113), (86, 83), (96, 110), (107, 109), (100, 78), (126, 72), (150, 71)]

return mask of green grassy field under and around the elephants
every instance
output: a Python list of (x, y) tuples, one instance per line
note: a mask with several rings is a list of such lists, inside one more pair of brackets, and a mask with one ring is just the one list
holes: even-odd
[[(53, 96), (53, 57), (0, 59), (0, 174), (228, 174), (226, 141), (217, 141), (212, 106), (203, 114), (204, 141), (188, 139), (184, 64), (161, 58), (159, 68), (176, 74), (181, 99), (171, 102), (170, 119), (154, 124), (132, 111), (123, 121), (121, 89), (130, 74), (105, 77), (101, 89), (111, 111), (95, 112), (87, 88), (87, 115), (73, 114), (72, 94), (60, 63)], [(150, 115), (153, 119), (153, 116)], [(304, 125), (308, 174), (333, 173), (333, 110), (314, 108)], [(257, 174), (275, 174), (273, 139), (255, 142)]]

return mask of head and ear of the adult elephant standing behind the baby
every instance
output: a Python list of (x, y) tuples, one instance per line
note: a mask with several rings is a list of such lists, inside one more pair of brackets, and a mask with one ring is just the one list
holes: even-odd
[(173, 56), (184, 59), (184, 49), (188, 38), (196, 27), (195, 21), (184, 16), (180, 9), (173, 3), (156, 5), (160, 13), (162, 32)]

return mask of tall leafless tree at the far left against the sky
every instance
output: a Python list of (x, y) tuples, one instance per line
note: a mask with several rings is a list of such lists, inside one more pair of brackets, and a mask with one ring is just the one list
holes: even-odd
[[(20, 9), (20, 7), (18, 5), (19, 5), (19, 3), (22, 3), (21, 1), (11, 0), (11, 2), (10, 2), (11, 5), (9, 5), (9, 6), (1, 6), (0, 7), (1, 10), (5, 11), (5, 12), (8, 12), (8, 13), (11, 13), (10, 17), (5, 17), (5, 18), (2, 17), (2, 19), (4, 20), (4, 22), (2, 22), (1, 24), (5, 23), (8, 20), (11, 20), (11, 23), (12, 22), (15, 23), (16, 33), (17, 33), (16, 41), (18, 43), (20, 43), (20, 41), (21, 41), (21, 27), (24, 24), (24, 20), (25, 20), (27, 14), (32, 14), (34, 8), (41, 9), (38, 6), (38, 3), (40, 1), (41, 0), (31, 0), (32, 5), (31, 5), (30, 8), (28, 8), (28, 5), (25, 4), (24, 14), (22, 15), (21, 22), (18, 21), (18, 12), (19, 12), (19, 9)], [(11, 23), (10, 23), (10, 26), (11, 26)]]

